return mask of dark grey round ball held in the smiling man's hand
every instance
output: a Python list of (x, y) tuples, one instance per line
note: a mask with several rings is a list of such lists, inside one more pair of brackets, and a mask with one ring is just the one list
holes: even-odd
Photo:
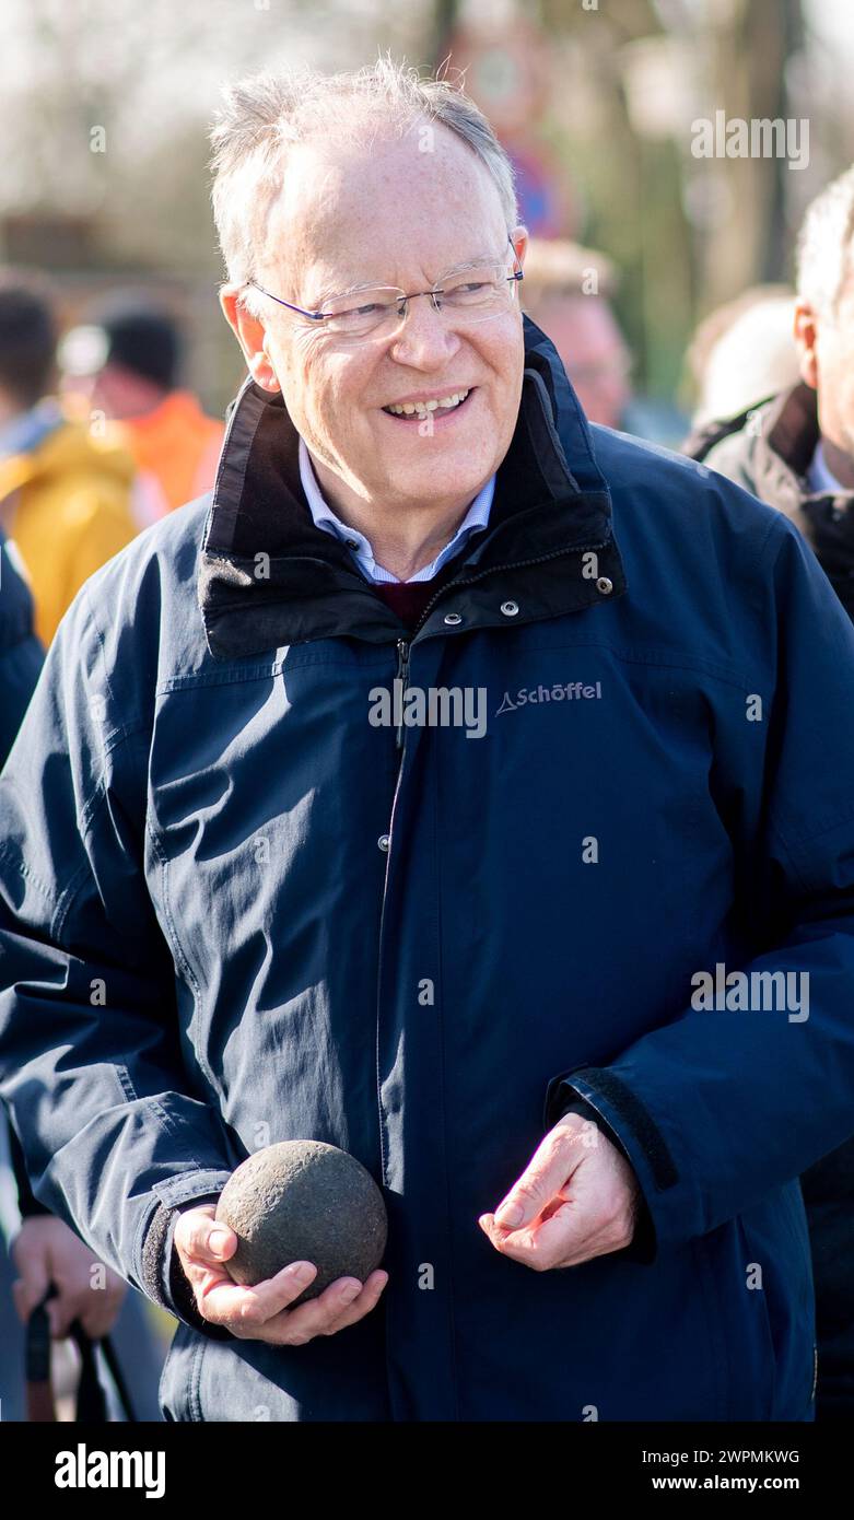
[(266, 1281), (290, 1262), (318, 1268), (293, 1304), (318, 1298), (339, 1277), (363, 1283), (386, 1249), (386, 1205), (374, 1178), (356, 1157), (321, 1140), (255, 1151), (231, 1173), (216, 1218), (237, 1236), (225, 1263), (236, 1283)]

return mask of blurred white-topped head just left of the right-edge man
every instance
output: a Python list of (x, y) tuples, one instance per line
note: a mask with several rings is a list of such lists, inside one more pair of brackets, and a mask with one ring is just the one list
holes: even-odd
[(704, 318), (688, 350), (694, 430), (743, 415), (798, 383), (793, 319), (795, 292), (783, 284), (751, 286)]

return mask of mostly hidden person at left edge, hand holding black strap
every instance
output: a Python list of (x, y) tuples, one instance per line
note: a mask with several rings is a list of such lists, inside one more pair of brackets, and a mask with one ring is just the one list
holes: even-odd
[[(0, 769), (40, 676), (44, 651), (33, 629), (33, 602), (17, 546), (0, 534)], [(47, 1316), (55, 1341), (71, 1321), (97, 1339), (111, 1335), (132, 1388), (137, 1417), (158, 1420), (157, 1385), (166, 1344), (152, 1335), (150, 1306), (105, 1268), (91, 1286), (97, 1256), (33, 1196), (21, 1148), (0, 1105), (0, 1411), (26, 1420), (24, 1325), (53, 1283)], [(164, 1316), (166, 1318), (166, 1316)]]

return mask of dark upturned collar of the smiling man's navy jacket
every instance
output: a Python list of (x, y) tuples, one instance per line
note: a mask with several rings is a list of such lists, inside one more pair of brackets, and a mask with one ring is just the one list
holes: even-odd
[[(590, 427), (546, 334), (524, 318), (524, 380), (501, 462), (489, 529), (438, 581), (416, 637), (509, 626), (577, 611), (625, 590), (611, 497)], [(281, 394), (246, 378), (219, 461), (205, 523), (198, 596), (208, 649), (229, 660), (281, 644), (346, 635), (389, 643), (401, 623), (350, 550), (312, 520), (298, 433)], [(584, 552), (596, 550), (594, 575)], [(611, 587), (611, 590), (608, 590)]]

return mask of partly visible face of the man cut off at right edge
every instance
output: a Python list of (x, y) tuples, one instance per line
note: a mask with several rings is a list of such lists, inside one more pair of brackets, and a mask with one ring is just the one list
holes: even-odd
[(808, 302), (798, 302), (795, 339), (801, 375), (818, 391), (827, 464), (846, 489), (854, 489), (854, 268), (836, 310), (816, 313)]

